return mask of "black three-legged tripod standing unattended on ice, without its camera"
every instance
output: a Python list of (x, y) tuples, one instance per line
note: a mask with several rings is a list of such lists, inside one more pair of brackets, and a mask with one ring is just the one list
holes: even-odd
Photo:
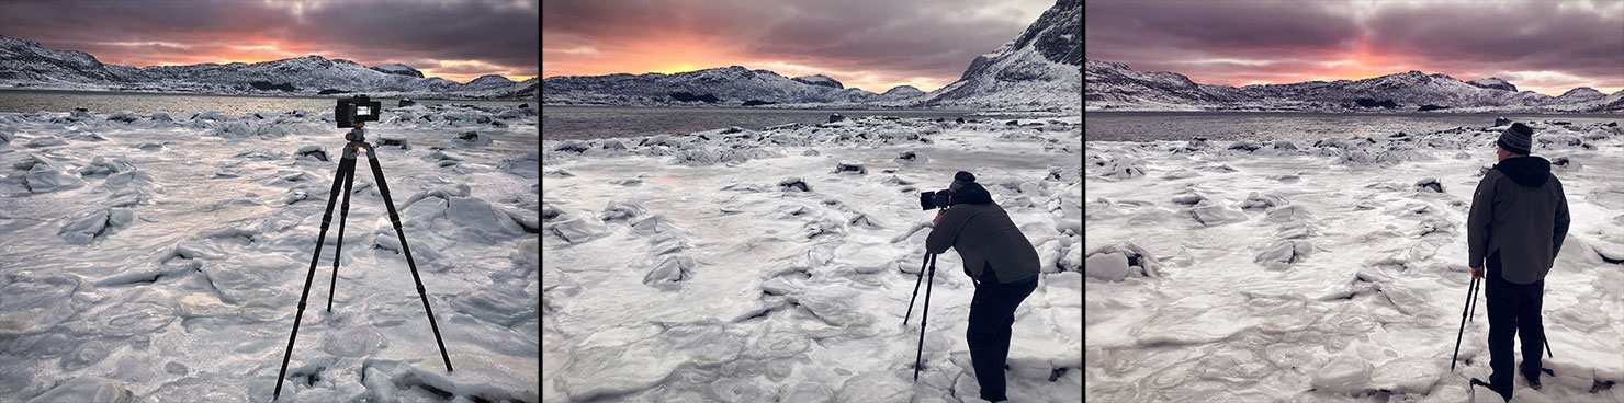
[(434, 329), (434, 341), (440, 345), (440, 358), (445, 359), (445, 371), (451, 372), (451, 356), (445, 353), (445, 341), (440, 340), (440, 325), (434, 322), (434, 309), (429, 308), (429, 295), (422, 288), (422, 277), (417, 275), (417, 264), (411, 259), (411, 248), (406, 246), (406, 231), (401, 230), (401, 217), (395, 214), (395, 202), (390, 201), (390, 186), (383, 183), (383, 168), (378, 167), (378, 152), (367, 142), (364, 121), (354, 121), (354, 129), (344, 134), (344, 157), (338, 162), (338, 173), (333, 178), (333, 191), (326, 197), (326, 214), (322, 215), (322, 231), (315, 240), (315, 256), (310, 257), (310, 274), (305, 275), (305, 290), (299, 296), (299, 314), (294, 316), (294, 332), (287, 337), (287, 353), (283, 354), (283, 371), (276, 375), (276, 392), (271, 400), (283, 395), (283, 380), (287, 375), (287, 359), (294, 356), (294, 338), (299, 338), (299, 320), (304, 319), (305, 299), (310, 298), (310, 282), (315, 280), (315, 264), (322, 259), (322, 243), (326, 241), (326, 228), (333, 220), (333, 204), (338, 202), (338, 185), (344, 185), (344, 204), (338, 210), (338, 244), (333, 248), (333, 282), (326, 290), (326, 311), (333, 312), (333, 291), (338, 288), (338, 257), (344, 249), (344, 218), (349, 217), (349, 185), (356, 178), (356, 152), (367, 149), (367, 162), (372, 165), (372, 178), (378, 183), (378, 194), (383, 196), (383, 207), (390, 212), (390, 223), (401, 241), (401, 254), (406, 254), (406, 265), (411, 267), (411, 278), (417, 282), (417, 298), (422, 299), (422, 311), (429, 312), (429, 329)]

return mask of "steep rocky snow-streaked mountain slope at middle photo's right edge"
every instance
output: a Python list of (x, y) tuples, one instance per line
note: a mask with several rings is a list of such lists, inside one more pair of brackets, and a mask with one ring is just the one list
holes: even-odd
[(1057, 0), (1020, 37), (978, 57), (921, 105), (1072, 110), (1082, 104), (1082, 66), (1083, 2)]

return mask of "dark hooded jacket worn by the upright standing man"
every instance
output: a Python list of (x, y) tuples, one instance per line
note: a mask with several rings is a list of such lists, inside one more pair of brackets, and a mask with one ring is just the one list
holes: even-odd
[(1470, 267), (1501, 252), (1501, 277), (1527, 285), (1544, 280), (1567, 236), (1567, 196), (1541, 157), (1512, 157), (1478, 181), (1466, 215)]

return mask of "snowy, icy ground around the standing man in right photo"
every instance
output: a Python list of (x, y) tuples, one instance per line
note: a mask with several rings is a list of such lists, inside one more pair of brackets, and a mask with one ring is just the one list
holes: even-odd
[[(1554, 375), (1514, 401), (1624, 401), (1624, 129), (1556, 120), (1525, 121), (1572, 212), (1544, 288)], [(1489, 359), (1479, 295), (1450, 372), (1465, 222), (1507, 128), (1486, 125), (1086, 142), (1086, 398), (1468, 401)]]

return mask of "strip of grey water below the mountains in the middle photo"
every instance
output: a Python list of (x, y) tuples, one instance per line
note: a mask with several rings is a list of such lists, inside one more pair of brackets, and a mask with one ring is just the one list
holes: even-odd
[[(624, 108), (546, 107), (541, 108), (542, 139), (603, 139), (651, 134), (689, 134), (741, 126), (762, 129), (788, 123), (825, 123), (830, 113), (848, 118), (978, 118), (976, 110), (799, 110), (799, 108)], [(986, 118), (986, 117), (979, 117)]]

